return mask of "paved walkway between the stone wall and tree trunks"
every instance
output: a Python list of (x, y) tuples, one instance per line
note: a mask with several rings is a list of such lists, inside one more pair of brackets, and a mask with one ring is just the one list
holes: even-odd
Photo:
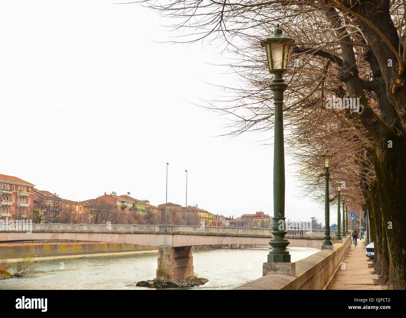
[(358, 245), (355, 248), (354, 244), (350, 244), (343, 262), (345, 269), (340, 266), (329, 290), (367, 290), (380, 289), (381, 285), (374, 285), (374, 279), (378, 279), (378, 275), (372, 275), (374, 268), (369, 268), (368, 257), (365, 255), (364, 241), (358, 240)]

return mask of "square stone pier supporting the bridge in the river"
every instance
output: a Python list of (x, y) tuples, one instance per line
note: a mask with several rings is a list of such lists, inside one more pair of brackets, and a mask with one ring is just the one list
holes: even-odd
[(182, 281), (192, 278), (193, 257), (192, 247), (159, 247), (158, 269), (156, 270), (157, 279), (168, 281)]

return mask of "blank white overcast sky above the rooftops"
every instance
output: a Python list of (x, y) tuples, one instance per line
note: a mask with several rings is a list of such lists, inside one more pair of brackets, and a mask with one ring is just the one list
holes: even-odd
[[(214, 214), (273, 215), (272, 136), (219, 137), (227, 119), (195, 104), (235, 85), (216, 45), (164, 43), (170, 24), (139, 4), (2, 2), (0, 173), (75, 201), (117, 192)], [(324, 223), (324, 204), (296, 196), (285, 216)], [(330, 207), (336, 223), (337, 207)], [(334, 215), (335, 213), (335, 215)], [(335, 222), (334, 222), (335, 220)]]

